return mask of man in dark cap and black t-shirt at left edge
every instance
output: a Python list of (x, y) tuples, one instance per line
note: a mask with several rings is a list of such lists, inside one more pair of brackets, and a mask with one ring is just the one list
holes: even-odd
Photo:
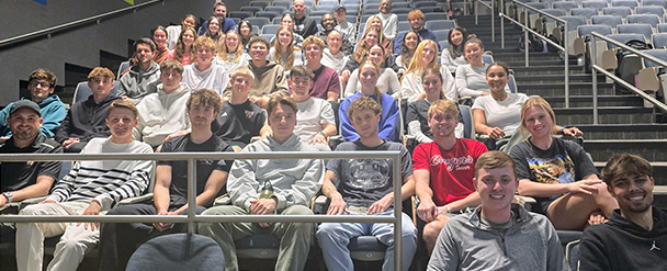
[[(7, 118), (12, 136), (0, 142), (0, 154), (61, 154), (60, 144), (39, 134), (42, 122), (39, 106), (33, 101), (12, 103)], [(7, 203), (48, 194), (60, 174), (60, 161), (0, 162), (0, 208)]]

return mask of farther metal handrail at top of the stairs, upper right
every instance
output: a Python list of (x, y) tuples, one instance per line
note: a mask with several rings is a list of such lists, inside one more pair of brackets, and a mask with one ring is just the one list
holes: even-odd
[[(530, 32), (531, 34), (538, 36), (540, 39), (545, 41), (546, 43), (553, 45), (554, 47), (558, 48), (558, 50), (563, 52), (564, 55), (564, 64), (565, 64), (565, 70), (564, 70), (564, 76), (565, 76), (565, 108), (568, 109), (569, 108), (569, 52), (568, 52), (568, 37), (567, 37), (567, 21), (559, 19), (557, 16), (554, 16), (552, 14), (545, 13), (541, 10), (538, 10), (533, 7), (527, 5), (525, 3), (519, 2), (517, 0), (510, 0), (512, 1), (512, 3), (518, 4), (520, 7), (522, 7), (523, 9), (529, 9), (532, 11), (538, 12), (539, 14), (542, 15), (546, 15), (547, 18), (554, 19), (555, 21), (562, 22), (565, 25), (565, 35), (563, 35), (563, 45), (561, 46), (559, 44), (556, 44), (554, 42), (552, 42), (551, 39), (549, 39), (547, 37), (543, 36), (542, 34), (539, 34), (538, 32), (533, 31), (532, 29), (530, 29), (529, 26), (521, 24), (519, 22), (517, 22), (516, 20), (513, 20), (512, 18), (507, 16), (505, 13), (500, 12), (500, 37), (501, 37), (501, 45), (505, 46), (505, 25), (504, 25), (504, 20), (502, 19), (507, 19), (510, 22), (521, 26), (521, 29), (523, 29), (523, 46), (524, 46), (524, 54), (525, 54), (525, 67), (529, 67), (529, 48), (528, 48), (528, 33)], [(504, 2), (501, 0), (500, 4), (502, 5)], [(504, 8), (504, 7), (502, 7)], [(528, 16), (528, 12), (524, 12), (524, 22), (528, 24), (529, 23), (529, 16)]]

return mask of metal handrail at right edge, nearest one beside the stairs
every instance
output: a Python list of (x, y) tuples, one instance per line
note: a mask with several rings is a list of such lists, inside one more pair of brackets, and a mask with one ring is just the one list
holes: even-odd
[[(630, 47), (623, 43), (620, 43), (618, 41), (611, 39), (607, 36), (600, 35), (598, 32), (592, 32), (590, 33), (591, 36), (591, 50), (597, 52), (597, 46), (596, 46), (596, 38), (600, 38), (607, 43), (611, 43), (615, 46), (619, 46), (625, 50), (632, 52), (634, 54), (636, 54), (637, 56), (642, 57), (642, 58), (647, 58), (648, 60), (652, 60), (654, 63), (657, 63), (659, 65), (662, 65), (663, 67), (667, 67), (667, 63), (663, 61), (662, 59), (645, 54), (643, 52), (640, 52), (633, 47)], [(597, 71), (600, 71), (602, 75), (611, 78), (612, 80), (614, 80), (615, 82), (622, 84), (623, 87), (632, 90), (635, 94), (640, 95), (642, 99), (647, 100), (648, 102), (653, 103), (655, 106), (659, 108), (663, 111), (667, 111), (667, 105), (665, 105), (665, 103), (656, 100), (655, 98), (646, 94), (644, 91), (635, 88), (634, 86), (630, 84), (629, 82), (626, 82), (625, 80), (617, 77), (615, 75), (604, 70), (602, 67), (597, 65), (597, 57), (591, 57), (591, 67), (592, 67), (592, 124), (598, 124), (598, 75)]]

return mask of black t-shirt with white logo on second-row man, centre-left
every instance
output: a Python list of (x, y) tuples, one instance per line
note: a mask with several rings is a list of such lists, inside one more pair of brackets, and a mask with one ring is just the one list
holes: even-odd
[(225, 101), (222, 112), (211, 124), (211, 131), (230, 145), (244, 148), (253, 136), (259, 136), (264, 122), (264, 111), (249, 100), (241, 104)]

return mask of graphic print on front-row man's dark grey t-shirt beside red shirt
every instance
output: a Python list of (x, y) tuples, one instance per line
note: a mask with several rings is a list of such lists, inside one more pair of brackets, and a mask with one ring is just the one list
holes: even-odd
[(383, 188), (389, 181), (389, 161), (386, 159), (350, 159), (350, 187), (360, 190)]

